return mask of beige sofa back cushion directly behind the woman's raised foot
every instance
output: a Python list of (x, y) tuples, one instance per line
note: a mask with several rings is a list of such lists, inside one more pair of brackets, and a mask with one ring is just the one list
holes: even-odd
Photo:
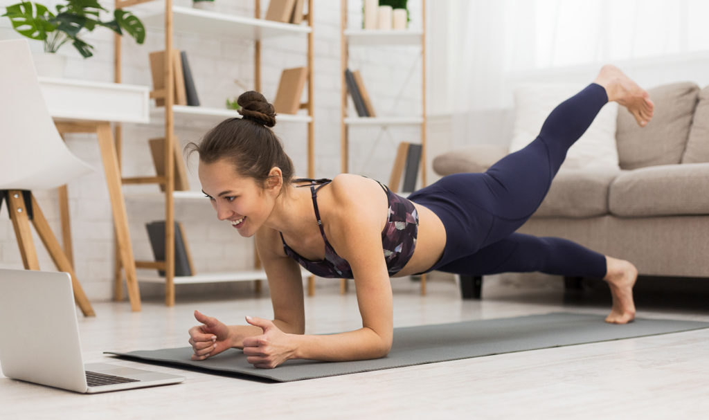
[(623, 107), (618, 110), (618, 158), (621, 169), (679, 164), (696, 108), (699, 86), (691, 82), (649, 89), (652, 120), (640, 127)]

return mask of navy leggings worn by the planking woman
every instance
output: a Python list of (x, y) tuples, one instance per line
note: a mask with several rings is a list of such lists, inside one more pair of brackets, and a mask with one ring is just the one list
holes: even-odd
[(566, 151), (608, 102), (590, 84), (549, 114), (540, 135), (483, 174), (453, 174), (409, 195), (434, 212), (447, 235), (431, 270), (469, 276), (541, 271), (605, 277), (605, 256), (561, 238), (515, 233), (542, 203)]

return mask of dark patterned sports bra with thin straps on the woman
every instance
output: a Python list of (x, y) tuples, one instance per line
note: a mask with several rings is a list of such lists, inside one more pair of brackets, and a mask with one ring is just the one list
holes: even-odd
[[(298, 261), (301, 266), (305, 267), (306, 270), (316, 276), (326, 278), (354, 278), (354, 276), (352, 276), (350, 263), (337, 255), (333, 246), (328, 242), (328, 238), (325, 237), (323, 221), (320, 220), (318, 190), (332, 182), (332, 180), (324, 178), (301, 178), (294, 180), (294, 182), (303, 181), (310, 182), (309, 185), (306, 184), (298, 187), (309, 186), (313, 193), (313, 208), (318, 218), (320, 234), (323, 235), (323, 241), (325, 241), (325, 259), (312, 261), (303, 258), (286, 244), (286, 241), (283, 239), (283, 234), (281, 233), (281, 242), (283, 242), (283, 249), (286, 255)], [(381, 231), (381, 247), (384, 251), (384, 259), (386, 260), (386, 268), (387, 271), (389, 271), (389, 276), (393, 276), (398, 273), (398, 271), (401, 271), (401, 268), (406, 266), (406, 263), (408, 263), (408, 260), (411, 259), (413, 255), (413, 250), (416, 247), (416, 235), (418, 234), (418, 212), (416, 212), (416, 208), (411, 201), (392, 193), (391, 190), (382, 185), (381, 182), (376, 182), (379, 183), (384, 190), (386, 198), (389, 201), (389, 217), (386, 220), (384, 230)]]

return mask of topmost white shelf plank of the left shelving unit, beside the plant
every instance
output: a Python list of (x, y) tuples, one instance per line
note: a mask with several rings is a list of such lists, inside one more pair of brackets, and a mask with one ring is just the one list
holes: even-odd
[[(140, 9), (137, 9), (135, 13), (147, 28), (159, 30), (164, 28), (164, 10), (158, 11), (154, 8), (149, 8), (140, 11)], [(174, 31), (178, 33), (199, 33), (200, 35), (218, 38), (255, 41), (286, 35), (307, 34), (311, 33), (312, 30), (306, 25), (225, 15), (184, 6), (172, 7), (172, 23)]]

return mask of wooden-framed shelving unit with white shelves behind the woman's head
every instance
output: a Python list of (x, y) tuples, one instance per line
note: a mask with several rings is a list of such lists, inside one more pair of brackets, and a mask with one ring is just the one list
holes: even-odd
[[(173, 6), (172, 0), (164, 0), (164, 7), (160, 7), (160, 1), (155, 0), (116, 0), (116, 8), (131, 8), (146, 26), (146, 30), (164, 30), (165, 44), (164, 51), (164, 81), (165, 86), (173, 86), (174, 74), (172, 63), (173, 35), (179, 33), (194, 33), (202, 36), (212, 36), (225, 39), (252, 40), (255, 43), (254, 52), (254, 86), (255, 91), (261, 91), (261, 41), (266, 38), (302, 36), (307, 42), (307, 64), (308, 67), (308, 100), (301, 104), (301, 109), (307, 110), (307, 115), (278, 115), (279, 122), (303, 123), (308, 130), (308, 176), (314, 178), (315, 151), (314, 137), (315, 127), (313, 119), (313, 0), (308, 0), (308, 14), (304, 16), (303, 25), (291, 23), (279, 23), (267, 21), (260, 16), (262, 8), (260, 0), (255, 0), (254, 17), (229, 16), (224, 13), (215, 13), (196, 8), (183, 6)], [(121, 83), (121, 38), (116, 36), (115, 46), (115, 81)], [(147, 59), (147, 57), (146, 57)], [(174, 103), (174, 93), (172, 89), (152, 91), (151, 98), (163, 98), (164, 102)], [(178, 277), (174, 276), (174, 205), (176, 200), (191, 200), (199, 198), (203, 200), (203, 194), (191, 191), (174, 191), (174, 154), (170, 151), (174, 148), (175, 126), (179, 120), (194, 121), (195, 119), (208, 123), (218, 123), (219, 121), (234, 116), (233, 110), (194, 107), (194, 106), (164, 106), (152, 108), (151, 118), (164, 121), (164, 168), (167, 176), (154, 176), (145, 178), (123, 178), (123, 183), (159, 183), (164, 186), (164, 193), (160, 196), (164, 198), (165, 213), (165, 259), (164, 261), (136, 261), (138, 268), (160, 269), (165, 272), (164, 277), (139, 276), (138, 280), (145, 282), (159, 282), (165, 284), (165, 303), (168, 306), (174, 305), (174, 290), (177, 284), (186, 283), (212, 283), (221, 281), (242, 281), (257, 280), (257, 290), (260, 288), (260, 280), (265, 279), (262, 270), (235, 271), (233, 273), (199, 273), (197, 276)], [(116, 127), (116, 142), (120, 150), (121, 127)], [(120, 157), (119, 157), (120, 160)], [(135, 197), (135, 196), (133, 196)], [(147, 197), (146, 197), (147, 198)], [(116, 267), (116, 287), (114, 297), (122, 300), (122, 274), (121, 267)], [(314, 278), (310, 278), (308, 293), (314, 291)]]

